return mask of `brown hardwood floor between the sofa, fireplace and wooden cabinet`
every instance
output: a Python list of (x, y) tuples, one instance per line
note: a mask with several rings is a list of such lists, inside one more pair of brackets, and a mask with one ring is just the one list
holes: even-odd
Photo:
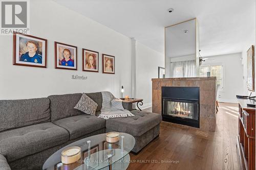
[(138, 155), (130, 153), (128, 169), (239, 169), (238, 104), (219, 103), (219, 106), (215, 132), (178, 128), (162, 122), (159, 138)]

